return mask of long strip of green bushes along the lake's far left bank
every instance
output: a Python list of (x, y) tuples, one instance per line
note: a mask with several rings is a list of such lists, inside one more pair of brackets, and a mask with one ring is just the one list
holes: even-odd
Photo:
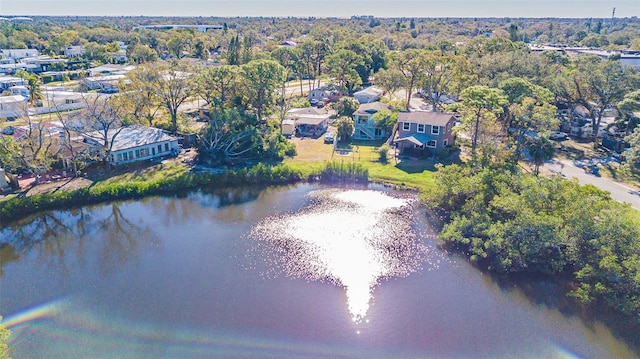
[(287, 184), (302, 180), (299, 171), (286, 165), (258, 164), (221, 173), (187, 172), (150, 181), (97, 183), (74, 191), (58, 191), (33, 196), (15, 197), (0, 202), (0, 224), (6, 224), (40, 211), (83, 206), (117, 199), (141, 198), (158, 194), (173, 194), (211, 186), (252, 184)]

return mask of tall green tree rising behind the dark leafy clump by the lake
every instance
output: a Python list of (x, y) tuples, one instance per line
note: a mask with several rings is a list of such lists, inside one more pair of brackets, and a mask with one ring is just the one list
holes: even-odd
[(240, 74), (246, 83), (243, 96), (260, 121), (272, 111), (275, 89), (285, 80), (284, 73), (284, 68), (273, 60), (254, 60), (240, 67)]

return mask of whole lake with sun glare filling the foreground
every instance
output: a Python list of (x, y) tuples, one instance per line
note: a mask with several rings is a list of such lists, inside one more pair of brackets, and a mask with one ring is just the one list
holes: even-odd
[(113, 202), (0, 243), (14, 358), (637, 357), (440, 250), (415, 196), (382, 186)]

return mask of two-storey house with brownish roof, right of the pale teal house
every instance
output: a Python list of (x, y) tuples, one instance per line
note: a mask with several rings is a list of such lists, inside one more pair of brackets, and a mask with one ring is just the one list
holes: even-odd
[(426, 155), (454, 143), (452, 129), (456, 118), (441, 112), (400, 112), (393, 143), (401, 154)]

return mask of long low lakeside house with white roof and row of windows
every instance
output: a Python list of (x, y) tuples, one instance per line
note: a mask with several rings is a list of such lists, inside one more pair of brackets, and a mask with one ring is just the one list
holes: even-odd
[[(120, 131), (117, 135), (116, 131)], [(175, 156), (180, 151), (178, 139), (164, 131), (142, 125), (127, 126), (109, 130), (107, 136), (115, 141), (111, 148), (111, 162), (114, 164), (161, 159)], [(89, 144), (100, 146), (100, 132), (84, 135)]]

